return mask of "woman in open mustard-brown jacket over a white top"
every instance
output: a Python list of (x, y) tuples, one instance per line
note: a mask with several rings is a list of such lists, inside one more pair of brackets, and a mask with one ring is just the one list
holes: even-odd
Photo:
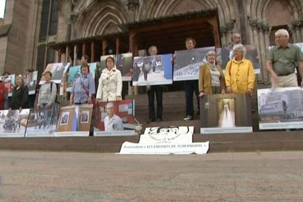
[(204, 94), (224, 94), (225, 80), (222, 68), (216, 65), (216, 53), (207, 53), (207, 62), (200, 66), (199, 96)]

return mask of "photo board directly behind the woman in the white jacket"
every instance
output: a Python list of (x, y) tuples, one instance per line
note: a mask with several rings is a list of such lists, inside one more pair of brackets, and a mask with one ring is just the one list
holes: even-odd
[(100, 57), (100, 67), (101, 69), (106, 68), (105, 60), (112, 56), (115, 59), (115, 66), (121, 71), (122, 81), (131, 81), (131, 69), (133, 66), (132, 53), (117, 54), (117, 55), (107, 55)]

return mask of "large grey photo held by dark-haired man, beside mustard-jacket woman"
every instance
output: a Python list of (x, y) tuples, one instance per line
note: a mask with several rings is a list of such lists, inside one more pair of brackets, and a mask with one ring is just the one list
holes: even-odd
[(197, 80), (199, 68), (206, 62), (209, 51), (215, 51), (215, 46), (176, 51), (174, 81)]

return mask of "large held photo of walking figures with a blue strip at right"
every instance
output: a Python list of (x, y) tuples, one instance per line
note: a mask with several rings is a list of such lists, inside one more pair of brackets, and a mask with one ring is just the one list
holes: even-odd
[(173, 83), (172, 54), (134, 57), (133, 85)]

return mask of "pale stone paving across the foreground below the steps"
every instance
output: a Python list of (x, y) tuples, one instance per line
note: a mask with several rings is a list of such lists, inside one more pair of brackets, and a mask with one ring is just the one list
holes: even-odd
[(0, 201), (302, 201), (303, 151), (123, 156), (0, 151)]

